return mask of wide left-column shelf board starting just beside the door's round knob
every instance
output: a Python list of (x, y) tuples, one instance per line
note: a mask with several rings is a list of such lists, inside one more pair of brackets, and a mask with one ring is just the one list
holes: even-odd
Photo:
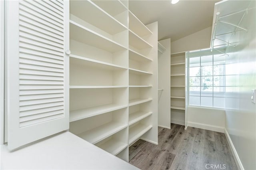
[(103, 61), (98, 61), (95, 59), (90, 59), (86, 57), (81, 57), (78, 55), (70, 54), (70, 62), (74, 64), (84, 65), (86, 67), (94, 67), (99, 69), (108, 69), (108, 70), (121, 70), (121, 69), (128, 69), (126, 67), (122, 67), (120, 65), (112, 64), (112, 63), (106, 63)]

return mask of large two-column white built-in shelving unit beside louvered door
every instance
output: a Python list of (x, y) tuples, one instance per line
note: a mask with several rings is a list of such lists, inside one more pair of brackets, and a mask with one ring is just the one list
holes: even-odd
[(157, 22), (125, 0), (70, 1), (70, 51), (70, 132), (126, 161), (157, 144)]

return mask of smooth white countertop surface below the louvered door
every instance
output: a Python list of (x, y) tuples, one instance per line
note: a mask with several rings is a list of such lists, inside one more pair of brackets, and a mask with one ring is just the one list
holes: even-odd
[(128, 162), (90, 144), (70, 133), (63, 132), (14, 152), (1, 146), (2, 169), (138, 169)]

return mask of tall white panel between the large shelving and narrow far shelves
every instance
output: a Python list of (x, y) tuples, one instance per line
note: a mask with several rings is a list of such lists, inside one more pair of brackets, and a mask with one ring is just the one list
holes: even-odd
[(171, 39), (159, 41), (166, 50), (158, 52), (158, 126), (171, 128), (170, 114), (170, 55)]

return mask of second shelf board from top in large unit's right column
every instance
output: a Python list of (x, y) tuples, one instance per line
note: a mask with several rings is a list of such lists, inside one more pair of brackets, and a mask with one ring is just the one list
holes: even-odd
[(152, 48), (148, 42), (140, 38), (137, 34), (129, 30), (129, 45), (132, 45), (136, 49)]

